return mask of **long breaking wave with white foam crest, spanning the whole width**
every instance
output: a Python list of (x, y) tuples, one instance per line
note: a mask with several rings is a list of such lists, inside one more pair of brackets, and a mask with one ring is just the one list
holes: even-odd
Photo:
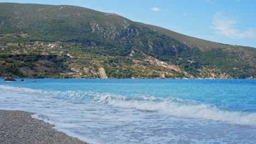
[(166, 115), (202, 118), (212, 121), (226, 122), (238, 125), (250, 125), (256, 127), (256, 113), (220, 110), (217, 107), (200, 104), (196, 101), (179, 98), (157, 98), (145, 95), (115, 95), (110, 93), (82, 92), (82, 91), (42, 91), (39, 89), (1, 86), (0, 90), (22, 91), (28, 93), (40, 93), (54, 97), (92, 100), (97, 103), (106, 103), (113, 106), (125, 107), (141, 111), (154, 111)]

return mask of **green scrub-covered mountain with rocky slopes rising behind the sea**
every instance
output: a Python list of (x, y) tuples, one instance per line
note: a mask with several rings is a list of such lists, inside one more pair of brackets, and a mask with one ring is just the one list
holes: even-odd
[(71, 5), (0, 3), (0, 76), (256, 78), (256, 49)]

